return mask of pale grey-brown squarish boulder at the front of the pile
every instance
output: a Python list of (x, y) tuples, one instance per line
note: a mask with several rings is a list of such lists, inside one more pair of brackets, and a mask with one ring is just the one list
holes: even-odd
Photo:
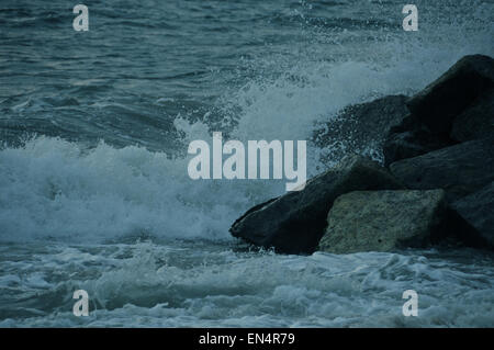
[(447, 232), (442, 190), (357, 191), (339, 196), (318, 249), (333, 253), (425, 247)]

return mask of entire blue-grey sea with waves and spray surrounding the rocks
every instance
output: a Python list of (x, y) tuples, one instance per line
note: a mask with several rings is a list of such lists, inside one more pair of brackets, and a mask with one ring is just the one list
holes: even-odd
[(418, 32), (397, 0), (88, 0), (76, 32), (76, 3), (2, 0), (0, 327), (493, 327), (492, 253), (252, 250), (228, 227), (285, 181), (187, 172), (221, 131), (306, 139), (317, 174), (341, 109), (494, 56), (494, 1), (414, 3)]

